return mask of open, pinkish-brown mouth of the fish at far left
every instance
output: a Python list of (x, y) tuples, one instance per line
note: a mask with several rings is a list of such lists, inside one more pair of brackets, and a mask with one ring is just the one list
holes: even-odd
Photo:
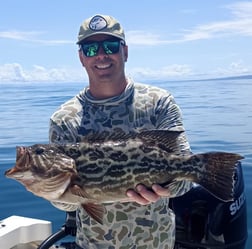
[(16, 148), (16, 164), (11, 169), (5, 171), (5, 176), (9, 178), (19, 179), (24, 176), (24, 171), (30, 162), (30, 155), (27, 148), (17, 146)]

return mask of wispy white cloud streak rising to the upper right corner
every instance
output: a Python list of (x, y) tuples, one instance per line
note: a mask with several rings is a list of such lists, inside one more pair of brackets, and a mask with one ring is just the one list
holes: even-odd
[(223, 36), (252, 36), (252, 2), (236, 2), (224, 8), (231, 12), (232, 19), (198, 25), (190, 30), (181, 31), (180, 37), (171, 40), (150, 32), (129, 31), (127, 32), (128, 43), (132, 45), (160, 45)]

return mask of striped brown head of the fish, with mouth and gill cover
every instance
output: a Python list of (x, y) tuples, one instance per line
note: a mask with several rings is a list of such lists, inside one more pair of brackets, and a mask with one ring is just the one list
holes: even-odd
[(16, 164), (5, 172), (28, 191), (50, 200), (64, 193), (76, 174), (75, 161), (53, 144), (17, 146)]

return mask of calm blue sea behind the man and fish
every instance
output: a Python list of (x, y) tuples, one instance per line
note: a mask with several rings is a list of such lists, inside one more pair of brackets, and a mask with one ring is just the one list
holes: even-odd
[[(242, 154), (248, 241), (252, 248), (252, 78), (155, 82), (169, 90), (180, 105), (194, 153), (213, 150)], [(7, 179), (16, 146), (48, 142), (48, 124), (55, 109), (77, 94), (81, 83), (0, 83), (0, 220), (11, 215), (63, 225), (65, 213)]]

